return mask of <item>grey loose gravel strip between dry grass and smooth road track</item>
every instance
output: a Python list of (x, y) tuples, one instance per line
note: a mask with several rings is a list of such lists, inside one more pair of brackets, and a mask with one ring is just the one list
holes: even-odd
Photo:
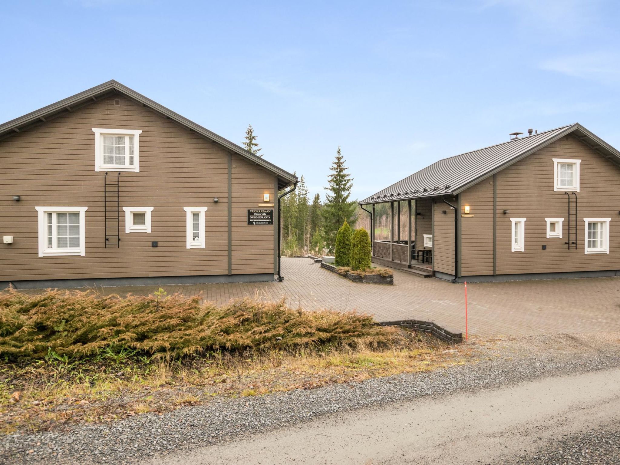
[[(607, 373), (620, 368), (619, 343), (620, 335), (610, 333), (495, 340), (487, 343), (486, 356), (480, 357), (479, 363), (447, 370), (267, 396), (216, 397), (210, 404), (184, 407), (164, 415), (136, 415), (115, 423), (74, 427), (63, 432), (4, 436), (0, 438), (0, 462), (51, 465), (147, 463), (163, 459), (160, 463), (167, 463), (168, 458), (182, 458), (179, 454), (225, 446), (258, 433), (277, 432), (281, 427), (286, 428), (280, 433), (286, 432), (319, 417), (327, 421), (331, 417), (345, 418), (360, 409), (394, 409), (404, 402), (440, 402), (467, 393), (484, 397), (494, 389), (552, 376)], [(591, 386), (596, 389), (598, 385)], [(425, 426), (422, 423), (417, 428), (423, 431)]]

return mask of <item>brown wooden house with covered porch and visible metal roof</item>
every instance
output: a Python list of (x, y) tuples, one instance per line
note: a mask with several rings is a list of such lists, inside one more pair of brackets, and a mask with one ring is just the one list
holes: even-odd
[(361, 201), (410, 218), (373, 234), (374, 262), (456, 281), (620, 275), (620, 152), (578, 123), (528, 134)]

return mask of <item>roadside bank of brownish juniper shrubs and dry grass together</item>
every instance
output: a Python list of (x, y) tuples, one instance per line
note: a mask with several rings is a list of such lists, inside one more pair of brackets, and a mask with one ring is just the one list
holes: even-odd
[(161, 297), (0, 294), (0, 432), (427, 371), (468, 356), (355, 312)]

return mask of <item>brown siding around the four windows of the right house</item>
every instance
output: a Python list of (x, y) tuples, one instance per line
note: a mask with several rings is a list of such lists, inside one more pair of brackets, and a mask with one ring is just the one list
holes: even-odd
[[(569, 223), (567, 196), (554, 192), (552, 159), (580, 159), (577, 249), (567, 249)], [(574, 196), (571, 196), (574, 205)], [(474, 206), (472, 205), (472, 209)], [(509, 213), (503, 215), (502, 211)], [(588, 148), (574, 136), (566, 136), (497, 174), (497, 273), (550, 273), (620, 269), (620, 168)], [(474, 210), (472, 210), (474, 211)], [(476, 206), (477, 211), (477, 206)], [(570, 235), (575, 240), (571, 211)], [(511, 252), (510, 218), (527, 218), (525, 251)], [(546, 237), (545, 218), (564, 218), (562, 237)], [(588, 254), (583, 218), (611, 218), (609, 254)], [(492, 218), (488, 219), (492, 228)], [(487, 240), (489, 240), (487, 237)], [(546, 245), (547, 249), (542, 250)], [(488, 265), (484, 266), (488, 270)]]

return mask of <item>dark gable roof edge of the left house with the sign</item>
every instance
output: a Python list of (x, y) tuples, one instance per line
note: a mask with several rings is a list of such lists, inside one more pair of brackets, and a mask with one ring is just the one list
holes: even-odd
[(129, 87), (123, 86), (123, 84), (114, 81), (113, 79), (112, 81), (104, 82), (99, 86), (87, 89), (84, 92), (79, 92), (79, 94), (71, 95), (71, 97), (60, 100), (55, 104), (47, 105), (47, 107), (39, 108), (38, 110), (30, 112), (27, 115), (3, 123), (2, 125), (0, 125), (0, 140), (14, 135), (16, 132), (19, 133), (23, 130), (26, 130), (31, 126), (39, 125), (49, 120), (50, 118), (63, 115), (64, 113), (71, 112), (78, 107), (90, 104), (93, 101), (96, 102), (97, 100), (107, 97), (108, 95), (117, 93), (126, 95), (130, 99), (139, 102), (145, 107), (149, 107), (157, 113), (161, 113), (161, 115), (164, 115), (166, 118), (169, 118), (170, 120), (173, 120), (180, 125), (197, 132), (199, 135), (224, 146), (224, 148), (228, 149), (229, 151), (239, 154), (242, 157), (246, 157), (247, 159), (249, 159), (249, 161), (254, 162), (259, 166), (262, 166), (267, 171), (272, 172), (273, 174), (278, 176), (278, 188), (286, 187), (298, 181), (296, 175), (291, 174), (290, 172), (285, 171), (278, 166), (275, 166), (273, 163), (268, 162), (262, 157), (254, 155), (253, 153), (238, 146), (237, 144), (232, 143), (228, 139), (224, 139), (222, 136), (218, 136), (216, 133), (213, 133), (210, 130), (203, 128), (203, 126), (200, 126), (199, 124), (194, 123), (193, 121), (190, 121), (185, 117), (182, 117), (181, 115), (179, 115), (179, 113), (173, 112), (169, 108), (166, 108), (163, 105), (154, 102), (148, 97), (144, 97), (144, 95), (138, 94), (138, 92), (130, 89)]

